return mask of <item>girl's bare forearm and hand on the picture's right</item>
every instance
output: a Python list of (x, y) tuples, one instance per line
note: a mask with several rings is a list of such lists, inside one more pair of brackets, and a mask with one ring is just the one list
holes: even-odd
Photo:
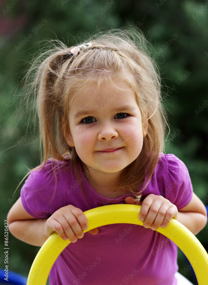
[(141, 205), (139, 219), (144, 221), (144, 227), (153, 230), (166, 227), (175, 218), (196, 235), (207, 223), (206, 208), (194, 193), (189, 204), (179, 211), (169, 200), (154, 194), (148, 195), (143, 202), (136, 202), (133, 197), (126, 197), (125, 202)]

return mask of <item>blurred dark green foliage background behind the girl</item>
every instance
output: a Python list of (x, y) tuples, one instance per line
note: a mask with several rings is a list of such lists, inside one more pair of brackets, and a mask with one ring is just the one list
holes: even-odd
[[(58, 38), (71, 46), (102, 27), (137, 27), (152, 44), (161, 71), (164, 104), (171, 132), (166, 152), (186, 164), (194, 192), (208, 204), (208, 7), (201, 1), (51, 0), (0, 1), (0, 195), (1, 260), (4, 267), (4, 219), (19, 191), (27, 167), (39, 164), (38, 130), (19, 113), (19, 82), (32, 58), (34, 44)], [(27, 133), (26, 133), (27, 131)], [(197, 235), (208, 249), (208, 227)], [(38, 247), (9, 235), (9, 269), (28, 275)], [(179, 272), (192, 282), (189, 265), (179, 253)]]

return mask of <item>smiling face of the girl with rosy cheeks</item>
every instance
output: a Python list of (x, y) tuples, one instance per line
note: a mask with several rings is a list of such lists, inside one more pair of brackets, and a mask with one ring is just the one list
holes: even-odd
[(75, 146), (88, 171), (120, 172), (139, 156), (146, 130), (134, 92), (127, 84), (96, 88), (95, 84), (87, 85), (72, 101), (70, 133), (65, 133), (65, 138)]

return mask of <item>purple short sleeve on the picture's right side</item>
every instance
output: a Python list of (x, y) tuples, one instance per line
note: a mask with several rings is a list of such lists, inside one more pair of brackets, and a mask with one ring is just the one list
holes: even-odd
[(165, 198), (178, 209), (188, 205), (193, 196), (191, 178), (185, 164), (173, 154), (166, 154), (162, 159), (167, 163), (167, 180), (165, 183)]

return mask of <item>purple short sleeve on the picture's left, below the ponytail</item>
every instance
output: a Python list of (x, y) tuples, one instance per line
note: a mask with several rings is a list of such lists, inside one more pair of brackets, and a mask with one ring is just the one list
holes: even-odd
[(21, 189), (25, 211), (37, 219), (47, 218), (62, 207), (63, 191), (60, 176), (54, 175), (51, 163), (29, 174)]

